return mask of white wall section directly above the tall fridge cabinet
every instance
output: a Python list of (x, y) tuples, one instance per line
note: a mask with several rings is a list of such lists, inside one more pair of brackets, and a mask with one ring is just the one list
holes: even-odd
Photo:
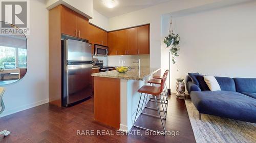
[(52, 9), (58, 5), (65, 5), (83, 16), (93, 18), (93, 0), (46, 0), (46, 7)]

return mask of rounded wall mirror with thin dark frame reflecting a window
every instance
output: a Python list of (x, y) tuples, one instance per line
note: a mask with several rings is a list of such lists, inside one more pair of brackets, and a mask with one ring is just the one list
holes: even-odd
[(27, 38), (17, 26), (0, 24), (0, 85), (4, 85), (22, 79), (27, 72)]

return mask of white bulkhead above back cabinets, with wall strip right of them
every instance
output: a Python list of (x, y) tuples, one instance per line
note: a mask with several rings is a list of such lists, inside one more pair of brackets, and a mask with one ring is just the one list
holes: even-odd
[(161, 65), (161, 15), (220, 1), (221, 0), (170, 1), (168, 3), (112, 17), (109, 19), (110, 30), (150, 23), (150, 66), (158, 68)]

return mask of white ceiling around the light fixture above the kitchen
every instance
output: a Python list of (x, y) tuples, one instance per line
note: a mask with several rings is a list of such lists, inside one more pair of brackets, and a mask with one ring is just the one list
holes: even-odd
[(157, 4), (165, 3), (171, 0), (114, 0), (118, 5), (112, 9), (103, 5), (102, 0), (94, 0), (93, 7), (96, 11), (106, 17), (114, 17), (136, 10), (151, 7)]

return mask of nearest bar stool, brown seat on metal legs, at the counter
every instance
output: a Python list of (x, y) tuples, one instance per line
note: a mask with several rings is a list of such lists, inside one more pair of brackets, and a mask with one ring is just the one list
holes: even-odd
[[(150, 85), (143, 85), (143, 86), (138, 90), (138, 92), (141, 93), (141, 94), (140, 94), (140, 100), (139, 100), (139, 104), (138, 104), (138, 107), (137, 107), (137, 110), (136, 110), (135, 119), (134, 119), (134, 127), (139, 128), (139, 129), (142, 129), (142, 130), (149, 130), (149, 131), (153, 131), (153, 132), (156, 132), (156, 133), (165, 135), (166, 130), (165, 130), (165, 127), (164, 127), (164, 124), (163, 124), (163, 119), (166, 119), (166, 115), (165, 115), (165, 112), (164, 112), (164, 118), (161, 117), (160, 109), (159, 109), (159, 107), (158, 107), (158, 102), (157, 102), (157, 96), (159, 96), (159, 98), (160, 98), (160, 94), (163, 92), (164, 83), (165, 83), (166, 77), (167, 77), (166, 75), (163, 75), (163, 78), (161, 79), (160, 87), (155, 87), (155, 86), (150, 86)], [(163, 126), (164, 133), (163, 133), (163, 132), (159, 132), (159, 131), (154, 131), (154, 130), (151, 130), (151, 129), (147, 129), (147, 128), (144, 128), (144, 127), (135, 125), (135, 120), (136, 120), (136, 117), (137, 117), (137, 115), (138, 115), (138, 113), (139, 113), (138, 110), (139, 110), (140, 101), (141, 101), (141, 97), (142, 97), (142, 94), (143, 94), (143, 93), (144, 93), (145, 95), (153, 95), (153, 96), (155, 96), (155, 102), (156, 102), (157, 111), (158, 111), (158, 113), (159, 113), (159, 116), (155, 116), (155, 115), (151, 115), (151, 114), (142, 112), (142, 111), (141, 111), (142, 107), (140, 108), (140, 113), (142, 113), (143, 115), (147, 115), (147, 116), (151, 116), (151, 117), (155, 117), (155, 118), (160, 118), (161, 123), (162, 123), (162, 126)], [(144, 99), (145, 99), (145, 96), (144, 96)], [(144, 99), (143, 99), (143, 102), (142, 102), (142, 106), (143, 106), (143, 104), (144, 104)], [(160, 100), (160, 102), (162, 102), (162, 101)], [(163, 103), (161, 103), (161, 105), (162, 105), (162, 108), (163, 108), (163, 110), (164, 110)]]

